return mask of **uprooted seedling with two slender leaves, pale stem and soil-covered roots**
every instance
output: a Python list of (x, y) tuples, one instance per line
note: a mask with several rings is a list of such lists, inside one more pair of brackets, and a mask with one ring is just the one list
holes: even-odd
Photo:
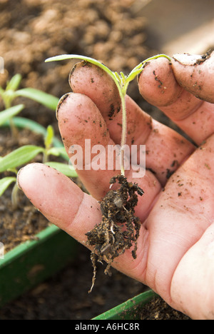
[[(105, 260), (107, 267), (105, 273), (109, 273), (111, 263), (118, 256), (123, 254), (126, 249), (133, 247), (132, 255), (136, 258), (137, 240), (139, 236), (139, 230), (141, 222), (138, 217), (134, 216), (135, 206), (138, 203), (138, 195), (143, 195), (143, 190), (138, 187), (136, 183), (128, 182), (125, 177), (125, 144), (126, 144), (126, 93), (128, 85), (133, 79), (140, 74), (148, 61), (165, 57), (170, 61), (170, 57), (165, 54), (159, 54), (153, 56), (141, 64), (138, 64), (128, 76), (123, 72), (113, 72), (103, 65), (100, 61), (92, 59), (86, 56), (79, 55), (61, 55), (55, 56), (46, 61), (61, 61), (66, 59), (81, 59), (83, 61), (92, 63), (111, 76), (118, 88), (118, 93), (121, 98), (121, 110), (122, 110), (122, 133), (121, 133), (121, 175), (111, 178), (111, 186), (113, 183), (118, 183), (121, 187), (116, 190), (110, 190), (101, 201), (101, 213), (102, 221), (93, 228), (93, 230), (86, 233), (88, 237), (88, 245), (94, 246), (94, 250), (91, 252), (91, 261), (93, 264), (93, 288), (96, 279), (96, 255), (98, 255), (98, 261)], [(119, 224), (118, 224), (119, 223)], [(89, 290), (89, 292), (91, 292)]]

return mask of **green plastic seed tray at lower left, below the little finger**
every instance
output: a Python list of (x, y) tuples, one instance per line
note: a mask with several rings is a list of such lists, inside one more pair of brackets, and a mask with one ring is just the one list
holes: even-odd
[(49, 226), (36, 237), (0, 258), (0, 306), (49, 278), (75, 258), (78, 243), (56, 226)]

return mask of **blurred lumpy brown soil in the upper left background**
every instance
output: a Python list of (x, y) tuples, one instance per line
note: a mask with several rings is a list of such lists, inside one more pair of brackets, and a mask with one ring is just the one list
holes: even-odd
[[(45, 64), (50, 56), (84, 54), (103, 61), (113, 71), (128, 73), (143, 59), (156, 54), (145, 43), (146, 19), (141, 13), (136, 15), (141, 3), (1, 0), (0, 50), (8, 76), (20, 73), (22, 86), (39, 88), (60, 98), (71, 91), (68, 74), (74, 62)], [(139, 98), (136, 86), (132, 85), (130, 93)], [(49, 125), (55, 121), (53, 113), (35, 106), (40, 123)], [(35, 119), (34, 111), (27, 114)]]

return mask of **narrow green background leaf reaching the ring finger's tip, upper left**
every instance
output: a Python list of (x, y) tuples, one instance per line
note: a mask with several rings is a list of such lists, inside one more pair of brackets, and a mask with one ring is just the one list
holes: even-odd
[(16, 91), (16, 96), (23, 96), (26, 98), (31, 98), (36, 102), (41, 103), (43, 106), (50, 108), (52, 110), (56, 110), (58, 105), (58, 98), (48, 93), (44, 93), (44, 91), (39, 91), (39, 89), (35, 88), (23, 88), (19, 91)]

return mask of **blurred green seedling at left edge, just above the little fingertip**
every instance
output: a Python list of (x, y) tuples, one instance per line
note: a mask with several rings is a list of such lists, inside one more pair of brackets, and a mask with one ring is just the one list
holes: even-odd
[(54, 139), (54, 130), (51, 126), (47, 128), (46, 136), (44, 138), (44, 147), (34, 146), (34, 145), (26, 145), (17, 148), (15, 151), (9, 153), (4, 157), (0, 157), (0, 173), (4, 173), (6, 171), (14, 173), (14, 176), (6, 176), (5, 178), (1, 178), (0, 180), (0, 196), (4, 194), (7, 188), (14, 184), (14, 188), (11, 192), (11, 202), (14, 209), (16, 209), (19, 205), (18, 199), (18, 186), (16, 183), (16, 176), (21, 166), (25, 166), (26, 163), (31, 162), (39, 153), (43, 154), (43, 162), (48, 166), (51, 166), (61, 173), (65, 174), (68, 177), (74, 178), (76, 177), (76, 171), (72, 169), (71, 166), (68, 166), (67, 163), (59, 163), (54, 161), (49, 161), (49, 156), (60, 156), (61, 154), (65, 154), (65, 149), (61, 147), (52, 147)]

